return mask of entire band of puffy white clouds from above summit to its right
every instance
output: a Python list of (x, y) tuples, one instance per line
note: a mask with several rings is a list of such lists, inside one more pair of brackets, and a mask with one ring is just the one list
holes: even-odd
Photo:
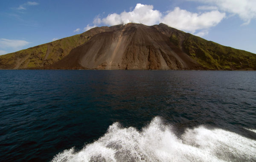
[(225, 13), (217, 10), (198, 14), (176, 7), (173, 11), (161, 13), (153, 8), (152, 5), (138, 3), (134, 10), (130, 12), (122, 12), (121, 14), (113, 13), (102, 19), (97, 16), (93, 22), (95, 24), (104, 23), (110, 26), (129, 22), (143, 23), (145, 25), (165, 23), (174, 28), (195, 33), (198, 30), (207, 31), (207, 29), (220, 23), (225, 17)]

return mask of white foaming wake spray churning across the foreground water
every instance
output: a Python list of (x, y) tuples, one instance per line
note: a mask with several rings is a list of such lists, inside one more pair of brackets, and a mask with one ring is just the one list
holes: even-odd
[(172, 127), (155, 117), (141, 131), (113, 123), (104, 136), (82, 150), (64, 150), (52, 159), (73, 161), (256, 161), (256, 141), (204, 126), (187, 128), (178, 137)]

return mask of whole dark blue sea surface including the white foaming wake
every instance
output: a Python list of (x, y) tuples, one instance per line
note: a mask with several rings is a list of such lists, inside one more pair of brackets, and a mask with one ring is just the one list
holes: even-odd
[(256, 72), (0, 70), (0, 161), (256, 161)]

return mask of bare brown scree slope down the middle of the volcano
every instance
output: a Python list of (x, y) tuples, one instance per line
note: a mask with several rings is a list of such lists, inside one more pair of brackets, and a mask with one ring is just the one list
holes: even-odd
[[(165, 26), (162, 24), (162, 26)], [(111, 26), (46, 69), (204, 69), (159, 26)]]

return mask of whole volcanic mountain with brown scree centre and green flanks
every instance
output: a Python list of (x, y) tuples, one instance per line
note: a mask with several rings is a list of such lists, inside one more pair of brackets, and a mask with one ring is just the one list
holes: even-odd
[(128, 23), (2, 55), (0, 69), (256, 70), (256, 55), (163, 23)]

